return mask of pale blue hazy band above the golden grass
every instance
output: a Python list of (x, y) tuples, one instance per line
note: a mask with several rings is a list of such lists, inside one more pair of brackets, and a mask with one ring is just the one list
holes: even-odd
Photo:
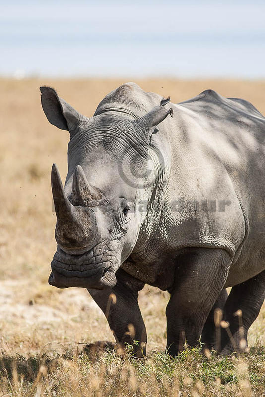
[(265, 78), (265, 2), (1, 1), (0, 77)]

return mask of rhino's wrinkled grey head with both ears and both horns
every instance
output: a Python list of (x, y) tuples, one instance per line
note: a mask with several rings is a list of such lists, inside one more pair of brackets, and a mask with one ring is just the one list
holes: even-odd
[[(52, 167), (58, 247), (49, 283), (59, 288), (113, 287), (145, 216), (135, 208), (146, 195), (139, 175), (148, 179), (150, 138), (172, 110), (162, 104), (139, 118), (112, 109), (88, 118), (54, 89), (40, 90), (49, 122), (70, 132), (65, 186), (56, 165)], [(135, 180), (128, 183), (120, 170), (132, 168), (132, 156)]]

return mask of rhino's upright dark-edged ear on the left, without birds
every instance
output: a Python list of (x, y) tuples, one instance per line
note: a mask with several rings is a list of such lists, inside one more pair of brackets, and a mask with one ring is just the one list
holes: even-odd
[(61, 130), (74, 130), (80, 113), (60, 98), (53, 88), (40, 87), (40, 91), (42, 108), (49, 122)]

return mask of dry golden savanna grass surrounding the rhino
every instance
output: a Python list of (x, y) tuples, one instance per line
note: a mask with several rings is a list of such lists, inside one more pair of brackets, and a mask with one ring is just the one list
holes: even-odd
[[(51, 126), (40, 85), (55, 87), (83, 114), (125, 80), (0, 80), (0, 396), (265, 396), (265, 309), (253, 324), (246, 357), (206, 359), (199, 349), (171, 360), (166, 292), (145, 287), (140, 306), (148, 356), (81, 354), (85, 343), (114, 341), (104, 315), (84, 289), (48, 285), (56, 249), (50, 169), (67, 170), (68, 132)], [(265, 82), (135, 81), (180, 102), (212, 88), (252, 102), (265, 114)]]

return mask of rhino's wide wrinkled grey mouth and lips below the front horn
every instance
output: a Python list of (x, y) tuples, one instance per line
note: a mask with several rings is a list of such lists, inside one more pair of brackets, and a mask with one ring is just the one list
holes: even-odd
[[(90, 255), (89, 255), (90, 254)], [(51, 262), (49, 284), (57, 288), (81, 287), (105, 289), (116, 285), (115, 257), (109, 252), (102, 255), (66, 254), (60, 248)]]

